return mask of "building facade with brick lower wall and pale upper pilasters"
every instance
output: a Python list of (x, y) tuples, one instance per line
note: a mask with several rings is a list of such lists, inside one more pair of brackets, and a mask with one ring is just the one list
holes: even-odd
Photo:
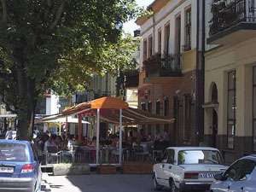
[(198, 145), (203, 135), (199, 9), (195, 0), (155, 0), (141, 26), (139, 108), (174, 117), (172, 125), (145, 125), (148, 134), (168, 131), (172, 145)]

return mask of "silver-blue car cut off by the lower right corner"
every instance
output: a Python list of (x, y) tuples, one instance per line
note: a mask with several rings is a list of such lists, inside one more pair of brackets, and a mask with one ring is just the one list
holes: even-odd
[(256, 155), (236, 160), (226, 172), (215, 175), (211, 192), (255, 192), (256, 191)]

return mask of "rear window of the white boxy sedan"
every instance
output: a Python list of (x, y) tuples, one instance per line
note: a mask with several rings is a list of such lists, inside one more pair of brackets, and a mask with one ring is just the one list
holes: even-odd
[(183, 150), (178, 152), (178, 165), (222, 164), (221, 155), (214, 150)]

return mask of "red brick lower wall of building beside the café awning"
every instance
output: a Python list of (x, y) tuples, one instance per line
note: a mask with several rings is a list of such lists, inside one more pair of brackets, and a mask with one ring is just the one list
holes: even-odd
[[(184, 73), (182, 77), (148, 79), (145, 78), (143, 72), (140, 73), (139, 108), (148, 110), (148, 102), (151, 102), (151, 113), (157, 113), (156, 103), (160, 102), (160, 115), (176, 119), (172, 125), (149, 125), (149, 127), (145, 125), (143, 128), (153, 135), (168, 130), (172, 145), (197, 144), (194, 97), (195, 74), (193, 72)], [(166, 100), (168, 102), (165, 102)]]

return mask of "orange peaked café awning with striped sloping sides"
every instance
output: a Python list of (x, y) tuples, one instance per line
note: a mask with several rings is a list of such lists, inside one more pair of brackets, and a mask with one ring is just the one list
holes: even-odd
[(115, 97), (102, 97), (90, 102), (80, 103), (72, 108), (65, 109), (62, 115), (95, 116), (98, 108), (101, 109), (101, 118), (113, 124), (119, 124), (119, 109), (123, 109), (124, 125), (170, 124), (174, 122), (171, 117), (163, 117), (141, 109), (129, 108), (127, 102)]

